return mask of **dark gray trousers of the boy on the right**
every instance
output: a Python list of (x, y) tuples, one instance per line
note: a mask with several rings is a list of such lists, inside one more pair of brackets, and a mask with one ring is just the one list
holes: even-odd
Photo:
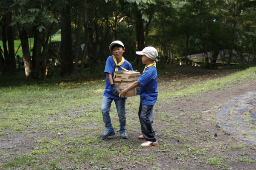
[(154, 105), (143, 105), (140, 103), (139, 118), (141, 132), (146, 141), (156, 142), (155, 133), (152, 128), (153, 123), (153, 107)]

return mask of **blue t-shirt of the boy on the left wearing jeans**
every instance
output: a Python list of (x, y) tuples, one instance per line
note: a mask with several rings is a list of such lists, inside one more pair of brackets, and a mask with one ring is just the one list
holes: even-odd
[[(118, 61), (116, 61), (116, 62), (117, 62), (117, 64), (119, 63)], [(128, 62), (126, 59), (125, 59), (125, 62), (121, 66), (123, 68), (125, 68), (126, 70), (133, 70), (130, 62)], [(111, 88), (111, 85), (110, 85), (109, 80), (108, 80), (108, 74), (112, 74), (112, 77), (114, 77), (115, 68), (116, 68), (116, 64), (114, 62), (113, 56), (109, 56), (108, 59), (107, 59), (106, 66), (105, 66), (105, 71), (104, 71), (104, 73), (107, 74), (107, 77), (106, 77), (106, 88), (105, 88), (103, 96), (111, 97), (113, 99), (126, 99), (126, 98), (113, 96), (112, 88)], [(123, 70), (120, 67), (117, 67), (117, 68), (120, 71)]]

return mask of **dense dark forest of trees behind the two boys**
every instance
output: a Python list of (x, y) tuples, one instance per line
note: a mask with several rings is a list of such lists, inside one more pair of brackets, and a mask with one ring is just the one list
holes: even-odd
[[(186, 64), (198, 53), (204, 53), (205, 65), (207, 57), (215, 63), (221, 51), (229, 61), (256, 63), (255, 0), (1, 0), (0, 16), (0, 75), (5, 76), (17, 74), (17, 39), (26, 79), (51, 77), (50, 59), (59, 56), (60, 76), (82, 73), (84, 63), (93, 74), (111, 54), (108, 46), (114, 40), (125, 44), (124, 57), (133, 65), (140, 65), (135, 51), (145, 46), (157, 48), (162, 68), (182, 56)], [(61, 42), (50, 42), (60, 29)]]

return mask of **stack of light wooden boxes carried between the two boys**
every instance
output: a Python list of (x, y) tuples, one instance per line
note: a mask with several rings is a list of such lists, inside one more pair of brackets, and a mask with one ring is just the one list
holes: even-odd
[[(141, 76), (140, 72), (137, 71), (116, 71), (115, 86), (116, 89), (121, 93), (122, 89), (127, 88), (133, 82), (135, 82)], [(140, 94), (140, 86), (128, 91), (125, 97), (137, 96)]]

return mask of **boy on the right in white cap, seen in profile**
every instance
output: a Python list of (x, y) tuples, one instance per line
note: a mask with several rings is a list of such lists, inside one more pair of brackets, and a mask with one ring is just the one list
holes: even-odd
[(141, 146), (153, 146), (157, 145), (157, 139), (155, 138), (154, 130), (152, 128), (153, 123), (153, 107), (157, 101), (157, 50), (154, 47), (145, 47), (142, 51), (137, 51), (136, 54), (142, 55), (141, 59), (143, 64), (146, 64), (143, 74), (140, 78), (132, 83), (129, 87), (122, 90), (120, 96), (125, 97), (126, 93), (131, 89), (140, 85), (140, 108), (139, 118), (141, 132), (140, 139), (145, 139), (146, 142)]

